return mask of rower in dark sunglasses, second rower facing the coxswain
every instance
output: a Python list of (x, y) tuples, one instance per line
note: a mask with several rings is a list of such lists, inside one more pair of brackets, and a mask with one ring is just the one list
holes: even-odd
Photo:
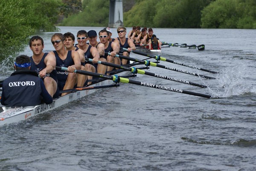
[[(51, 38), (55, 51), (50, 51), (56, 58), (56, 66), (67, 67), (68, 72), (57, 70), (58, 87), (60, 90), (74, 88), (77, 83), (76, 69), (81, 69), (81, 60), (77, 51), (67, 51), (65, 49), (66, 37), (61, 33), (55, 33)], [(69, 93), (62, 93), (64, 96)]]

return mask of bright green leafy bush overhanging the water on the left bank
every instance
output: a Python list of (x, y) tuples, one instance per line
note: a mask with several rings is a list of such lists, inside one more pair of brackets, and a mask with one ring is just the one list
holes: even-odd
[(54, 30), (59, 1), (1, 0), (0, 1), (0, 60), (16, 56), (35, 31)]

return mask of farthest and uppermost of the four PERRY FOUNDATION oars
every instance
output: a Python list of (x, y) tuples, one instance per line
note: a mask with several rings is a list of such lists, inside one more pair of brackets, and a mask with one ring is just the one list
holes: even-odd
[[(120, 49), (123, 49), (124, 51), (128, 51), (127, 48), (120, 48)], [(135, 54), (141, 54), (141, 55), (146, 56), (146, 57), (151, 57), (151, 58), (154, 58), (156, 60), (162, 60), (162, 61), (166, 61), (166, 62), (169, 62), (169, 63), (175, 63), (175, 64), (180, 65), (180, 66), (186, 66), (186, 67), (189, 67), (189, 68), (194, 68), (194, 69), (198, 69), (198, 70), (201, 70), (201, 71), (206, 71), (206, 72), (210, 72), (210, 73), (213, 73), (213, 74), (218, 73), (216, 71), (210, 71), (208, 69), (200, 68), (200, 67), (197, 67), (197, 66), (192, 66), (192, 65), (188, 65), (188, 64), (185, 64), (185, 63), (180, 63), (180, 62), (177, 62), (177, 61), (174, 61), (174, 60), (169, 60), (169, 59), (166, 59), (164, 57), (160, 57), (158, 55), (147, 54), (147, 53), (144, 53), (142, 51), (132, 50), (131, 52), (133, 52)]]

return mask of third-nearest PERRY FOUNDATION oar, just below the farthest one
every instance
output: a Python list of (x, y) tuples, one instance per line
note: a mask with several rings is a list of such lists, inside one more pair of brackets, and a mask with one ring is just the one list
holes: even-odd
[[(108, 52), (105, 52), (105, 54), (110, 55), (110, 53), (108, 53)], [(125, 60), (131, 60), (131, 61), (135, 61), (135, 62), (138, 62), (138, 63), (144, 63), (145, 66), (156, 66), (156, 67), (169, 69), (169, 70), (172, 70), (172, 71), (177, 71), (177, 72), (181, 72), (181, 73), (184, 73), (184, 74), (190, 74), (190, 75), (203, 77), (203, 78), (207, 78), (207, 79), (216, 79), (214, 77), (208, 77), (208, 76), (201, 75), (201, 74), (196, 74), (196, 73), (193, 73), (193, 72), (190, 72), (190, 71), (184, 71), (184, 70), (177, 69), (177, 68), (172, 68), (172, 67), (169, 67), (169, 66), (163, 66), (163, 65), (160, 65), (160, 64), (157, 64), (157, 63), (150, 62), (148, 60), (138, 60), (138, 59), (134, 59), (134, 58), (131, 58), (131, 57), (125, 57), (123, 55), (118, 55), (118, 54), (116, 54), (115, 57), (120, 57), (120, 58), (123, 58)]]

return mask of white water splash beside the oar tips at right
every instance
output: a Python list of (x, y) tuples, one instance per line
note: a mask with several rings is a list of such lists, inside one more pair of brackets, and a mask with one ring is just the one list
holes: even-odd
[(256, 94), (254, 79), (249, 77), (248, 66), (227, 67), (217, 75), (216, 86), (209, 86), (213, 97), (232, 97), (243, 94)]

